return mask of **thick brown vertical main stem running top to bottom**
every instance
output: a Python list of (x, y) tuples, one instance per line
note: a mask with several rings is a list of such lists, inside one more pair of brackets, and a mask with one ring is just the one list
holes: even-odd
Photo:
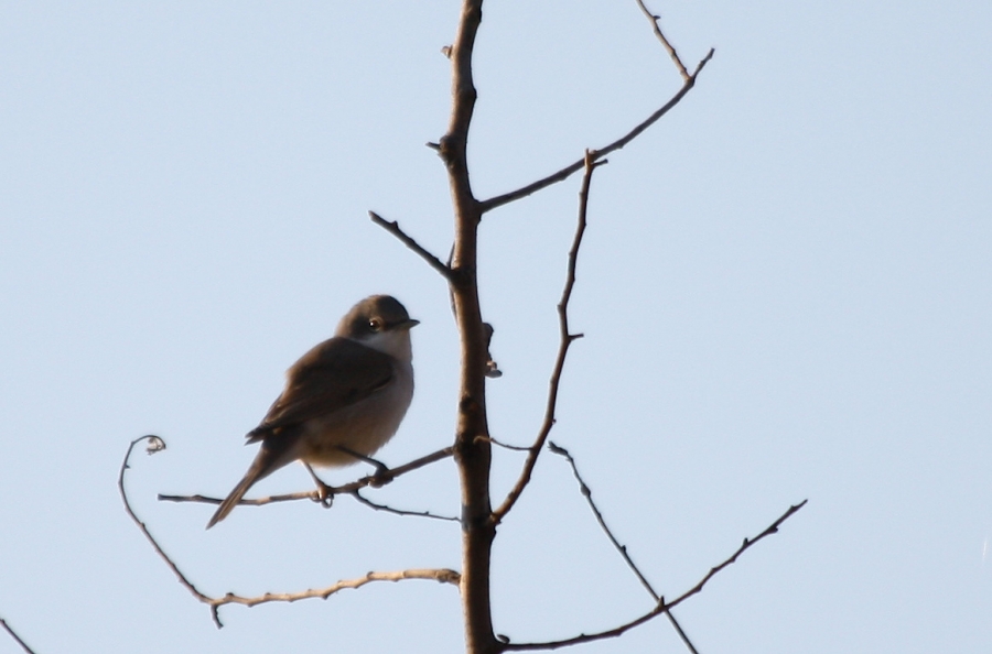
[(466, 156), (476, 98), (472, 52), (481, 22), (482, 0), (463, 0), (457, 34), (450, 53), (451, 120), (448, 133), (439, 143), (439, 152), (448, 168), (455, 219), (451, 292), (462, 359), (455, 461), (462, 487), (461, 590), (465, 650), (471, 654), (492, 654), (499, 651), (499, 643), (493, 634), (489, 606), (489, 569), (496, 530), (489, 520), (492, 450), (486, 421), (487, 342), (477, 285), (477, 237), (482, 214), (472, 193)]

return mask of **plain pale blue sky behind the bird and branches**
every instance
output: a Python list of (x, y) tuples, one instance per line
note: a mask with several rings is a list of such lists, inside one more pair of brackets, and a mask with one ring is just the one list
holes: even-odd
[[(698, 87), (596, 173), (552, 439), (666, 596), (809, 504), (677, 614), (704, 654), (992, 650), (992, 7), (654, 2)], [(446, 445), (455, 2), (0, 3), (0, 615), (56, 652), (456, 652), (452, 587), (208, 611), (370, 569), (459, 567), (456, 525), (342, 499), (212, 509), (282, 372), (391, 293), (417, 395), (381, 453)], [(481, 197), (625, 132), (679, 78), (633, 2), (489, 2), (471, 164)], [(494, 436), (543, 411), (578, 178), (482, 226), (505, 375)], [(502, 497), (519, 457), (498, 453)], [(360, 470), (332, 473), (345, 480)], [(309, 489), (291, 467), (259, 493)], [(451, 464), (384, 489), (457, 511)], [(547, 456), (495, 549), (497, 632), (548, 640), (650, 607)], [(0, 654), (19, 651), (0, 636)], [(684, 652), (658, 620), (579, 651)]]

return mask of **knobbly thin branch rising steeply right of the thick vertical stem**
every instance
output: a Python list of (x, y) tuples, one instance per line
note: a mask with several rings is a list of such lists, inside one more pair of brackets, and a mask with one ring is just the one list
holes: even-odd
[(594, 161), (592, 152), (586, 150), (584, 163), (585, 175), (582, 177), (582, 186), (579, 190), (579, 225), (575, 227), (575, 236), (572, 239), (572, 249), (569, 251), (568, 274), (565, 276), (564, 288), (561, 293), (561, 301), (558, 303), (560, 340), (558, 346), (558, 357), (554, 361), (554, 370), (551, 372), (551, 381), (548, 384), (548, 402), (544, 408), (544, 421), (541, 424), (541, 428), (538, 432), (533, 445), (530, 447), (530, 451), (527, 455), (527, 460), (524, 462), (524, 468), (520, 471), (517, 483), (514, 484), (514, 488), (507, 493), (503, 504), (493, 511), (492, 520), (494, 524), (499, 524), (499, 522), (506, 517), (506, 514), (509, 513), (510, 509), (514, 508), (514, 504), (520, 498), (520, 493), (524, 492), (524, 489), (527, 488), (527, 484), (530, 482), (530, 476), (533, 473), (533, 467), (537, 465), (541, 448), (544, 447), (548, 434), (551, 433), (551, 428), (554, 426), (554, 410), (558, 406), (558, 389), (561, 385), (561, 373), (564, 370), (569, 347), (575, 339), (582, 338), (581, 334), (572, 334), (569, 330), (569, 301), (572, 297), (572, 288), (575, 286), (575, 268), (579, 263), (579, 248), (582, 246), (582, 236), (585, 233), (585, 218), (589, 209), (589, 186), (592, 183), (593, 171), (595, 171), (597, 166), (605, 164), (606, 160)]

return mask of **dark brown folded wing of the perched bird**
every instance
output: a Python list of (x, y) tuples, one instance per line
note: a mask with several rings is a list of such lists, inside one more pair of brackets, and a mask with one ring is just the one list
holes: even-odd
[(315, 346), (287, 371), (285, 390), (249, 443), (277, 429), (304, 423), (365, 400), (392, 380), (392, 359), (348, 338), (335, 337)]

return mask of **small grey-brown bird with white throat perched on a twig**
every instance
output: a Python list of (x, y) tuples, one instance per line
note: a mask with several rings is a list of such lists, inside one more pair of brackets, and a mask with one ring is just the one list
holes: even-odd
[(282, 394), (246, 436), (261, 442), (255, 461), (207, 528), (227, 517), (255, 482), (292, 461), (308, 468), (371, 461), (413, 399), (410, 328), (418, 324), (395, 297), (373, 295), (352, 307), (333, 338), (293, 363)]

